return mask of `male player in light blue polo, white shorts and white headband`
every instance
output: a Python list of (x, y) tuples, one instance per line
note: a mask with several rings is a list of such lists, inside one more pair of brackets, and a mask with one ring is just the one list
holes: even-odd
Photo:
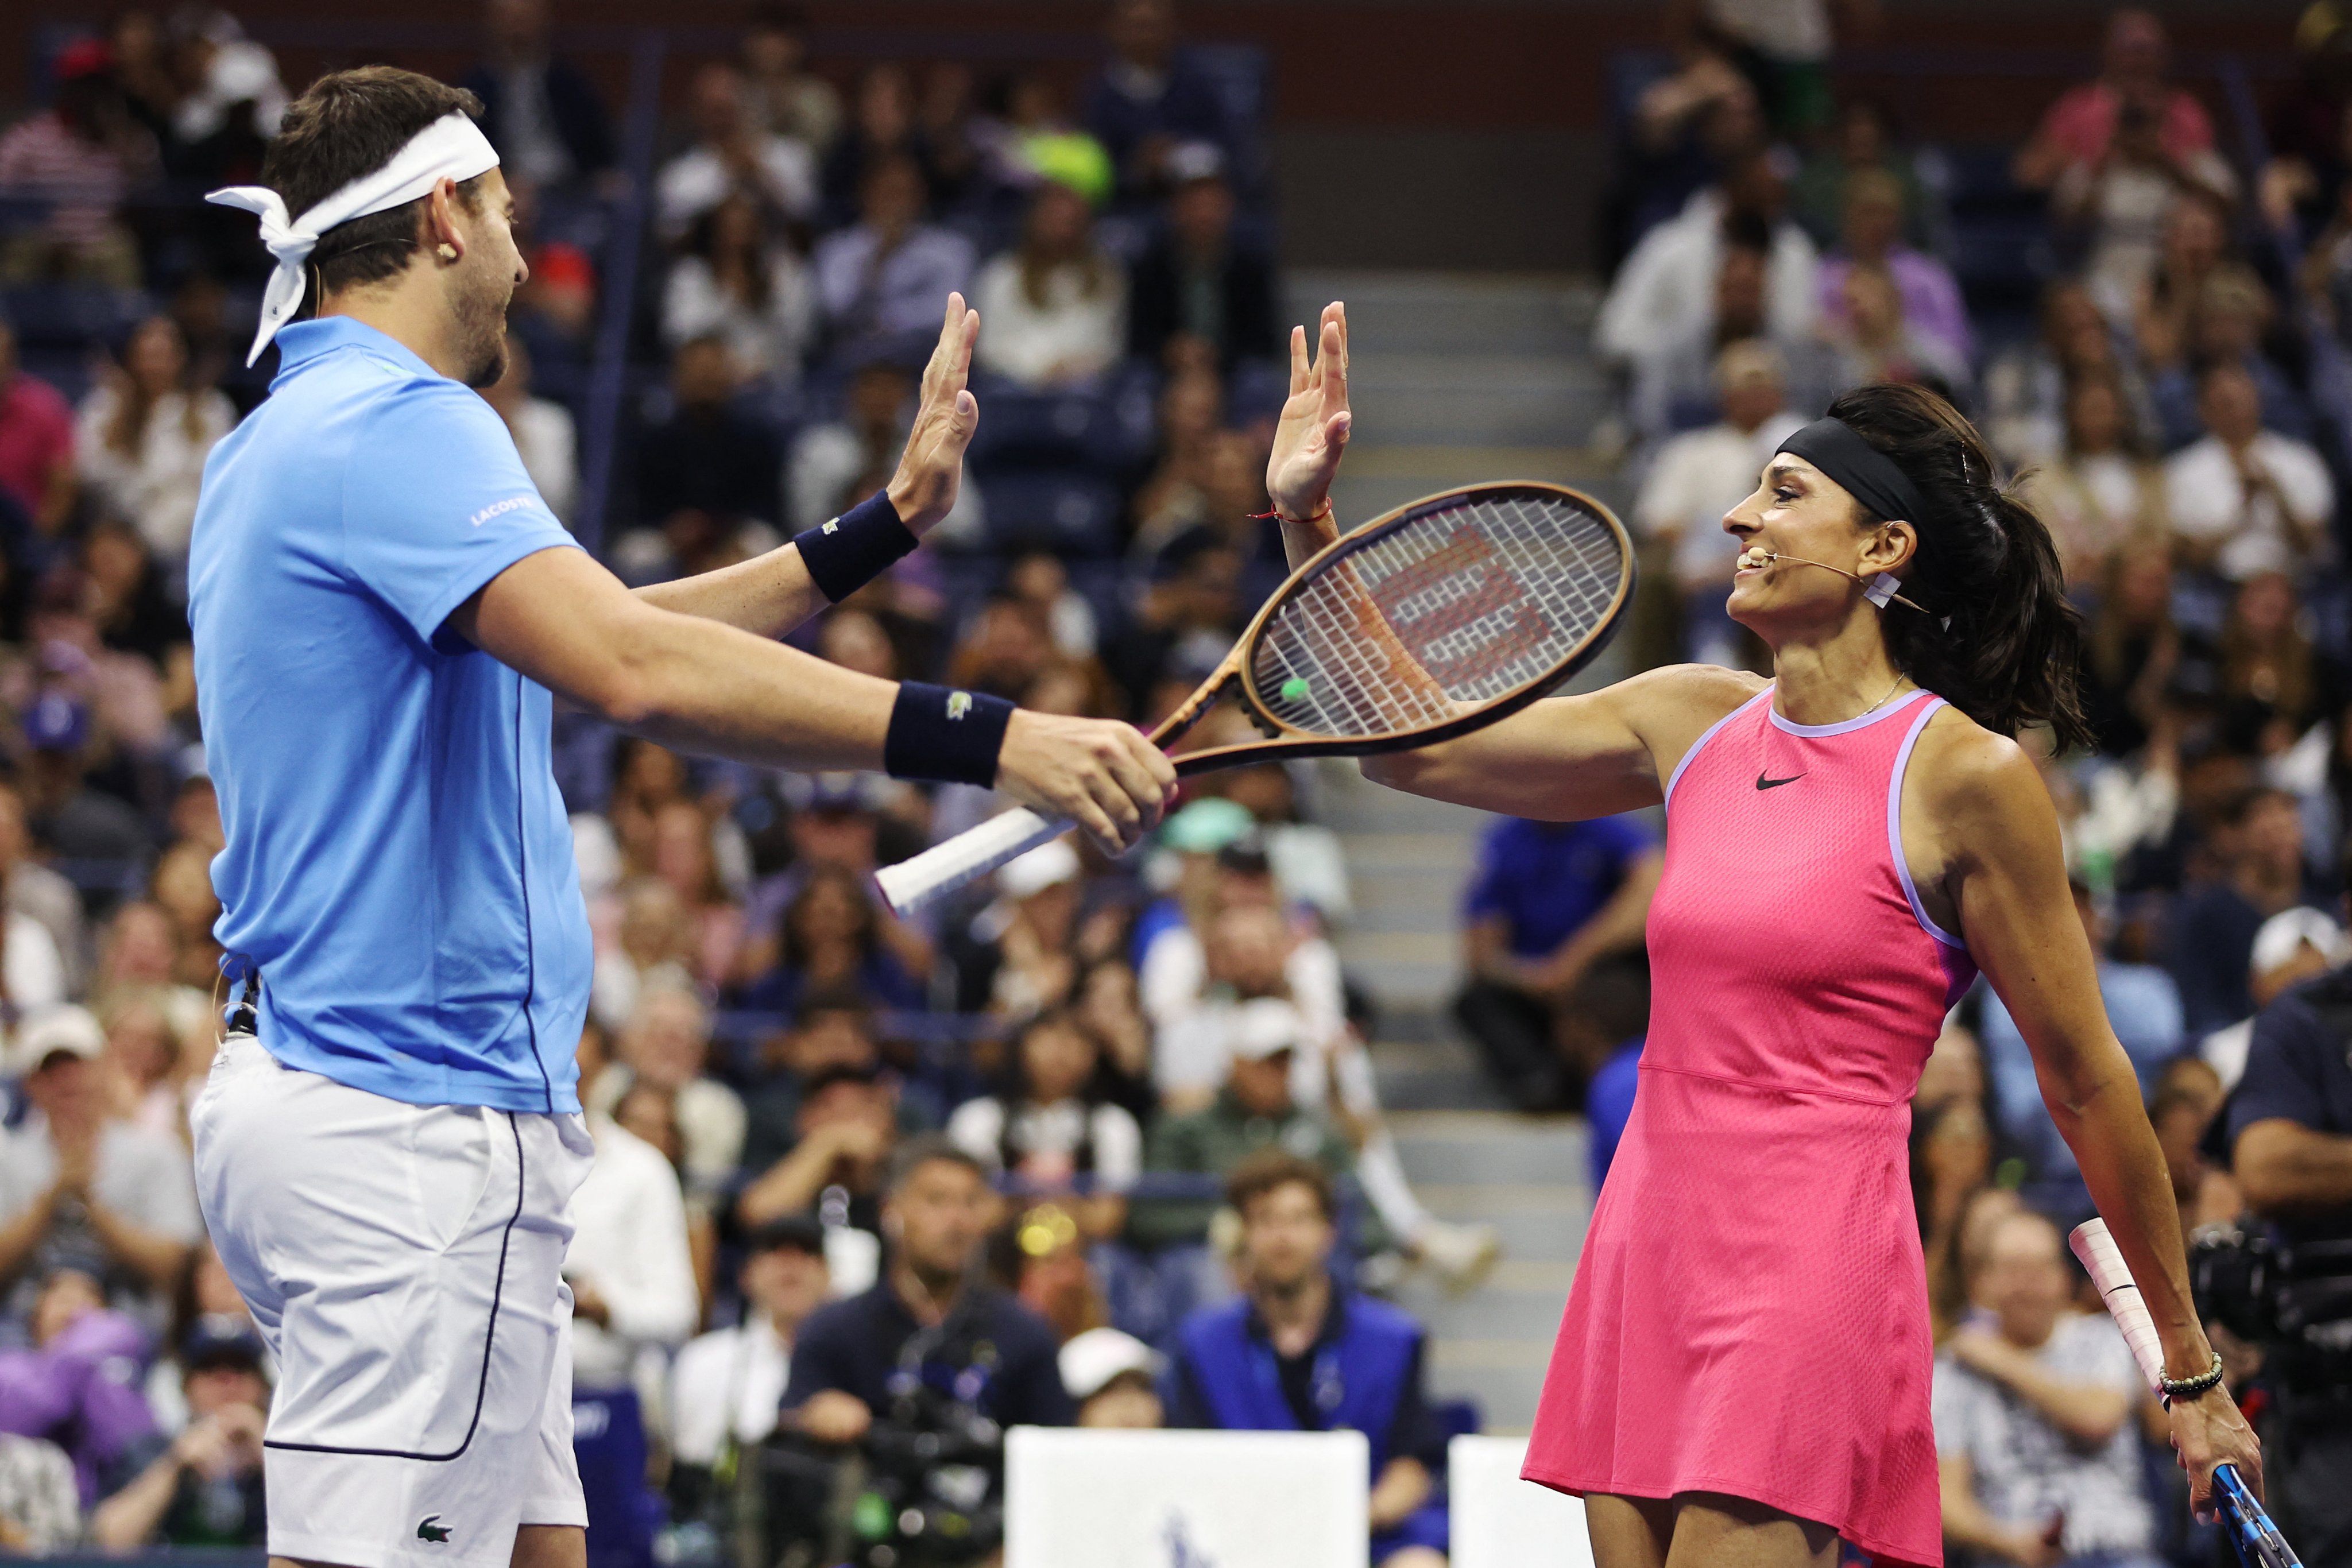
[[(270, 400), (205, 470), (191, 621), (242, 1004), (193, 1110), (221, 1260), (282, 1368), (278, 1561), (586, 1561), (564, 1201), (588, 917), (550, 693), (755, 764), (997, 783), (1124, 846), (1174, 773), (1122, 724), (870, 679), (771, 642), (955, 501), (978, 317), (948, 299), (887, 494), (644, 592), (470, 390), (524, 266), (473, 94), (320, 78), (212, 200), (278, 256)], [(318, 320), (294, 322), (318, 287)]]

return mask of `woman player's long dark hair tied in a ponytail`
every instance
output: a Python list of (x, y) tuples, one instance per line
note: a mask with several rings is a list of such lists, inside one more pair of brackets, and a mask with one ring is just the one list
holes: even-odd
[[(2058, 545), (1999, 482), (1985, 440), (1917, 386), (1856, 388), (1830, 418), (1891, 458), (1926, 505), (1905, 517), (1919, 548), (1896, 574), (1926, 614), (1889, 604), (1882, 616), (1896, 668), (1994, 733), (2049, 724), (2060, 752), (2091, 745), (2077, 691), (2082, 611), (2065, 597)], [(1856, 510), (1865, 527), (1886, 522)]]

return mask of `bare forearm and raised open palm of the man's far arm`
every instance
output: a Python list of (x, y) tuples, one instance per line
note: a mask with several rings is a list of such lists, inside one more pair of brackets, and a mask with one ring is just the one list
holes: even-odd
[[(948, 296), (948, 320), (938, 327), (938, 346), (922, 367), (922, 404), (906, 437), (898, 473), (884, 494), (898, 522), (915, 538), (929, 534), (955, 505), (964, 475), (964, 447), (981, 423), (974, 402), (971, 343), (981, 334), (981, 313), (964, 306), (962, 294)], [(816, 576), (800, 557), (800, 545), (701, 576), (640, 588), (637, 597), (680, 616), (722, 621), (755, 637), (783, 637), (802, 621), (826, 609), (828, 599)]]

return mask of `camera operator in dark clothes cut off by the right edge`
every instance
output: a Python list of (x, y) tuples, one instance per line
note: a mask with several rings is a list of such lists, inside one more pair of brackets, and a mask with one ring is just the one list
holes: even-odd
[[(2352, 966), (2256, 1018), (2223, 1117), (2237, 1182), (2279, 1246), (2244, 1248), (2241, 1288), (2201, 1291), (2199, 1307), (2265, 1345), (2279, 1528), (2310, 1568), (2352, 1568)], [(2197, 1251), (2199, 1284), (2220, 1279), (2204, 1237)]]

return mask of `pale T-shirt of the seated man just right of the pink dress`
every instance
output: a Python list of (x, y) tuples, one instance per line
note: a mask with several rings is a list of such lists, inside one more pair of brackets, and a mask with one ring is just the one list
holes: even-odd
[[(2147, 1387), (2107, 1314), (2070, 1314), (2032, 1352), (2051, 1375), (2103, 1382), (2138, 1401)], [(2053, 1422), (1997, 1382), (1936, 1356), (1936, 1453), (1966, 1455), (1976, 1497), (2011, 1526), (2039, 1528), (2065, 1514), (2065, 1556), (2147, 1552), (2154, 1519), (2140, 1476), (2138, 1425), (2084, 1453)]]

